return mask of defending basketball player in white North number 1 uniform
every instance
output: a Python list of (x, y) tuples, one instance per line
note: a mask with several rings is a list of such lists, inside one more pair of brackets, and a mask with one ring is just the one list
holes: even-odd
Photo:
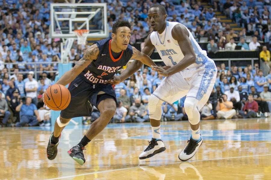
[[(186, 95), (184, 108), (192, 135), (188, 145), (180, 152), (179, 159), (187, 161), (202, 144), (199, 110), (209, 99), (217, 70), (214, 61), (207, 57), (206, 51), (200, 48), (191, 32), (179, 22), (167, 22), (166, 18), (166, 10), (161, 5), (153, 5), (148, 10), (148, 21), (154, 32), (148, 36), (142, 52), (151, 55), (155, 47), (166, 66), (152, 66), (165, 78), (149, 98), (152, 139), (139, 159), (150, 158), (166, 149), (160, 136), (161, 104), (172, 104)], [(132, 63), (111, 83), (123, 81), (141, 67), (138, 61)]]

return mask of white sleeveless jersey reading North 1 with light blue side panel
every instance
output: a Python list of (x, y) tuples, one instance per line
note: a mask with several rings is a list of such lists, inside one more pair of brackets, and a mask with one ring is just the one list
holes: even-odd
[[(171, 34), (173, 27), (177, 24), (181, 23), (167, 21), (166, 29), (161, 35), (159, 35), (157, 31), (151, 33), (151, 43), (155, 46), (161, 59), (167, 66), (176, 65), (184, 58), (184, 54), (180, 49), (178, 41), (173, 39)], [(209, 58), (207, 57), (206, 51), (202, 50), (201, 47), (198, 45), (192, 33), (188, 29), (187, 31), (189, 33), (189, 39), (192, 43), (196, 55), (196, 62), (187, 67), (187, 69), (190, 69), (193, 67), (201, 66), (202, 64), (204, 64), (205, 61), (208, 61)]]

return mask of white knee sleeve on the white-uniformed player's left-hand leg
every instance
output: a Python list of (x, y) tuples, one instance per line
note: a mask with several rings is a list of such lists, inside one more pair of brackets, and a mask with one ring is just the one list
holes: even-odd
[(162, 116), (161, 105), (163, 101), (154, 95), (149, 97), (149, 118), (160, 120)]

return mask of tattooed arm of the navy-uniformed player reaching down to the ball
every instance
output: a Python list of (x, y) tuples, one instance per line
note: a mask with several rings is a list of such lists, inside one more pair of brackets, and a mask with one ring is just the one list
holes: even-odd
[(73, 81), (93, 60), (98, 58), (100, 51), (97, 44), (93, 44), (86, 49), (83, 58), (81, 58), (75, 66), (61, 76), (56, 84), (67, 85)]

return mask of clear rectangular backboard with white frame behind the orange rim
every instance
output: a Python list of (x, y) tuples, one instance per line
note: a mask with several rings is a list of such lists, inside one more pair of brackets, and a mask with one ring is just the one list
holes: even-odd
[(106, 3), (51, 3), (51, 38), (76, 38), (76, 29), (89, 30), (88, 38), (107, 38)]

